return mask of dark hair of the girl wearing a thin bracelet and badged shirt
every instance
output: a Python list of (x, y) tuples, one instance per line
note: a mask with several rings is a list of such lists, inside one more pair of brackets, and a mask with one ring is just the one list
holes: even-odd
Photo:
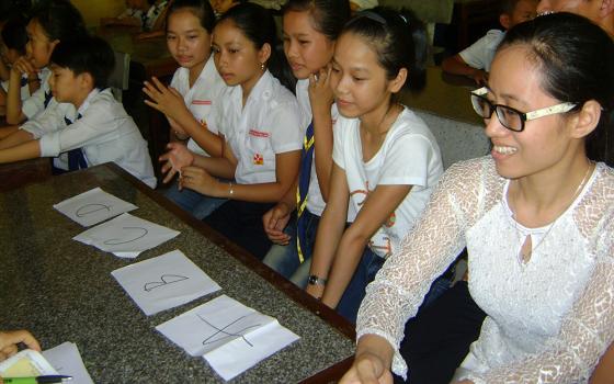
[(296, 79), (292, 75), (283, 46), (277, 38), (277, 26), (271, 11), (264, 7), (246, 2), (229, 9), (219, 18), (218, 23), (225, 20), (232, 21), (243, 35), (255, 45), (257, 49), (261, 49), (264, 44), (271, 46), (271, 57), (266, 63), (268, 68), (282, 84), (294, 92)]

